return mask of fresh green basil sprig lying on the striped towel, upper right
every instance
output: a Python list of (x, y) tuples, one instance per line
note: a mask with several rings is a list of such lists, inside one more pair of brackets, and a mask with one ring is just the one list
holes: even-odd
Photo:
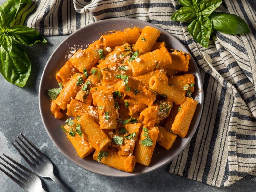
[(188, 32), (204, 47), (208, 47), (213, 30), (222, 33), (249, 33), (250, 29), (240, 17), (224, 12), (215, 12), (222, 0), (179, 0), (181, 7), (171, 19), (188, 22)]

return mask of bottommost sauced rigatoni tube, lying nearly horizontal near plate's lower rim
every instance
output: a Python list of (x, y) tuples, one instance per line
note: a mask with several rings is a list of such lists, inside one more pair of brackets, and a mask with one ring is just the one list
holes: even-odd
[[(108, 165), (109, 167), (114, 167), (116, 169), (133, 172), (135, 166), (135, 156), (134, 155), (119, 155), (114, 149), (107, 149), (107, 157), (103, 157), (100, 163)], [(93, 154), (93, 159), (98, 161), (99, 152), (95, 151)]]

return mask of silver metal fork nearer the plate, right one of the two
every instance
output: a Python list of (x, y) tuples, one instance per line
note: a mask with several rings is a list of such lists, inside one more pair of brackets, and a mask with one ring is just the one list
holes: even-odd
[[(69, 192), (68, 188), (54, 175), (53, 173), (53, 164), (50, 161), (50, 159), (45, 156), (28, 138), (25, 137), (22, 133), (20, 135), (29, 143), (29, 145), (40, 155), (38, 156), (29, 146), (28, 144), (22, 140), (19, 136), (18, 139), (23, 143), (23, 145), (28, 149), (26, 150), (19, 142), (18, 140), (14, 139), (15, 142), (22, 148), (22, 150), (27, 154), (27, 156), (30, 158), (30, 161), (28, 157), (24, 155), (24, 153), (21, 152), (21, 150), (13, 143), (12, 145), (17, 149), (17, 151), (20, 153), (20, 155), (25, 159), (25, 161), (28, 163), (28, 165), (32, 168), (34, 172), (36, 172), (37, 175), (41, 177), (48, 177), (51, 178), (64, 192)], [(28, 152), (30, 151), (32, 155)]]

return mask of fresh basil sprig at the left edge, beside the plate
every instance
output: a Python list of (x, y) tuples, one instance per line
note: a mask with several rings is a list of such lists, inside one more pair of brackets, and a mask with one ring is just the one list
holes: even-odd
[(19, 44), (31, 46), (47, 41), (35, 29), (10, 25), (20, 3), (31, 4), (31, 0), (7, 0), (0, 6), (0, 72), (7, 81), (23, 87), (30, 75), (31, 62)]

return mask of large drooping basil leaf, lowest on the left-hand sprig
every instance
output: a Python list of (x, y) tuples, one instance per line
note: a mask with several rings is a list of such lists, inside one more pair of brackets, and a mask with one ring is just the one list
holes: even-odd
[(31, 62), (20, 45), (12, 42), (12, 49), (7, 52), (0, 47), (0, 72), (12, 84), (24, 87), (31, 71)]

